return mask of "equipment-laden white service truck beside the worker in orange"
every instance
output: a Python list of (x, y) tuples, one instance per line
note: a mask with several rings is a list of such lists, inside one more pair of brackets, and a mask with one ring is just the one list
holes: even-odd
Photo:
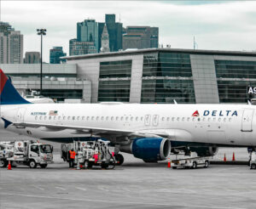
[(100, 166), (102, 168), (114, 168), (115, 159), (109, 141), (98, 139), (96, 141), (79, 142), (72, 144), (61, 144), (61, 158), (63, 161), (70, 161), (69, 150), (76, 152), (73, 167), (83, 165), (85, 168)]

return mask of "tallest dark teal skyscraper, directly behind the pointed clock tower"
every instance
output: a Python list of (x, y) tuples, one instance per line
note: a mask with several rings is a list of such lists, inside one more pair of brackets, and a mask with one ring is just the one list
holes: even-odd
[[(115, 22), (115, 14), (105, 14), (105, 23), (99, 23), (99, 37), (102, 36), (104, 25), (107, 25), (109, 35), (109, 48), (111, 52), (116, 52), (122, 48), (123, 36), (123, 24)], [(101, 46), (101, 40), (99, 40), (99, 46)]]

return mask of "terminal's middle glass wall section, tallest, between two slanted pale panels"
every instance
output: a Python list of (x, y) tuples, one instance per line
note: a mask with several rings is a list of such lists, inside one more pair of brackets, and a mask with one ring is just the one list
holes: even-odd
[(143, 58), (142, 103), (195, 103), (189, 54), (155, 53)]

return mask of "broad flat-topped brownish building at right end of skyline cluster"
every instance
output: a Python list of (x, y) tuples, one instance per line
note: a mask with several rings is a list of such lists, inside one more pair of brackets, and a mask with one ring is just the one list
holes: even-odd
[(123, 35), (123, 49), (158, 48), (159, 28), (149, 26), (127, 26)]

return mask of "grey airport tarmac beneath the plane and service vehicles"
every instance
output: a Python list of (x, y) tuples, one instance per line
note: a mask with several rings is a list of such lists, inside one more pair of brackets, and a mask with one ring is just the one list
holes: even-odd
[[(236, 158), (247, 158), (245, 149), (233, 150)], [(233, 150), (220, 149), (219, 157)], [(124, 156), (123, 166), (114, 170), (73, 170), (56, 152), (46, 169), (1, 168), (0, 208), (255, 207), (256, 171), (245, 165), (172, 170), (166, 161), (146, 164)]]

